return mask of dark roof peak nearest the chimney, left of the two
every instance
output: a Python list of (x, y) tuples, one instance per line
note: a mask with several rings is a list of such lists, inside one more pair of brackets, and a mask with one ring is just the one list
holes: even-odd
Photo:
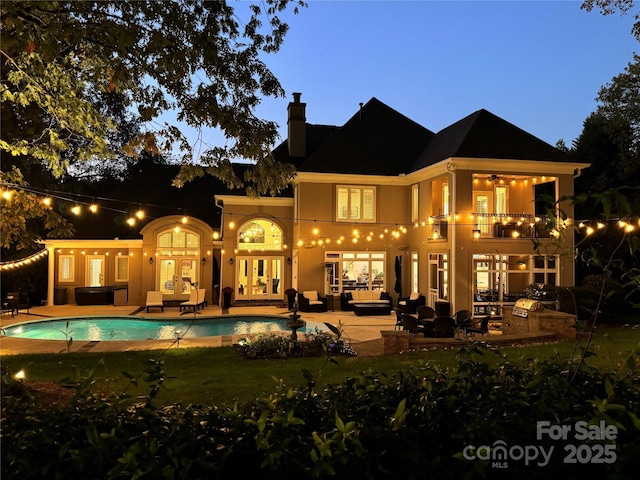
[(430, 130), (372, 98), (342, 127), (334, 127), (333, 135), (317, 149), (308, 149), (298, 170), (399, 175), (409, 170), (433, 136)]

